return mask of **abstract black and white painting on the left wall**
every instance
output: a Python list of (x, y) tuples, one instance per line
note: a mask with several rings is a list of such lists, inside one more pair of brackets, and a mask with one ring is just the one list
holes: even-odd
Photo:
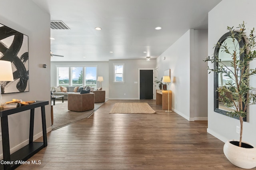
[(2, 94), (29, 91), (28, 36), (0, 24), (0, 60), (12, 62), (14, 78), (1, 82)]

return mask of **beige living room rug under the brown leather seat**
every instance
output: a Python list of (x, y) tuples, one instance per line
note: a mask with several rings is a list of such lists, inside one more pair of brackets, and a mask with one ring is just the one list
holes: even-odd
[(68, 110), (68, 101), (62, 100), (57, 101), (53, 106), (53, 125), (52, 130), (69, 125), (71, 123), (75, 123), (84, 118), (90, 117), (94, 111), (96, 111), (99, 107), (101, 107), (104, 103), (94, 103), (94, 109), (90, 111), (84, 112), (74, 112)]

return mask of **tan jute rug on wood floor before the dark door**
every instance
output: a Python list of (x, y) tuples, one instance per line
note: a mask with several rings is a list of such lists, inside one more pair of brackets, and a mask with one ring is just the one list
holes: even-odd
[(115, 103), (110, 113), (156, 113), (148, 103)]

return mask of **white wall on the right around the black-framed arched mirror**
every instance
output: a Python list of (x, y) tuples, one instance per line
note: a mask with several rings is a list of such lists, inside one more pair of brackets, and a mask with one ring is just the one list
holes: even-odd
[[(247, 35), (253, 27), (256, 27), (255, 0), (222, 0), (214, 9), (209, 12), (208, 18), (208, 55), (210, 57), (214, 53), (214, 44), (219, 38), (227, 32), (227, 26), (234, 26), (243, 21), (246, 24)], [(210, 68), (213, 64), (208, 63)], [(256, 67), (254, 61), (251, 68)], [(239, 120), (230, 118), (214, 110), (214, 78), (213, 73), (208, 75), (208, 132), (223, 142), (230, 139), (239, 140), (239, 134), (236, 133), (236, 126), (240, 127)], [(250, 78), (250, 84), (256, 87), (256, 77)], [(247, 122), (244, 122), (243, 140), (256, 146), (256, 105), (252, 105), (248, 109)]]

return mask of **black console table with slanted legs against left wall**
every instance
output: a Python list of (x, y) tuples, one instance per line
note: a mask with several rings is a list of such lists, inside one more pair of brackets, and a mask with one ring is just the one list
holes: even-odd
[[(36, 154), (39, 150), (47, 146), (46, 136), (46, 119), (45, 119), (45, 105), (48, 105), (49, 101), (36, 101), (29, 105), (21, 105), (16, 108), (6, 108), (0, 111), (1, 117), (1, 130), (2, 130), (2, 148), (3, 148), (3, 160), (0, 164), (0, 169), (11, 170), (17, 168), (20, 164), (16, 164), (18, 161), (28, 160), (31, 156)], [(42, 115), (42, 129), (43, 129), (43, 142), (33, 142), (34, 133), (34, 113), (35, 108), (41, 107)], [(30, 110), (30, 129), (29, 129), (29, 144), (17, 150), (13, 154), (10, 154), (10, 142), (9, 142), (9, 130), (8, 130), (8, 115), (19, 113), (22, 111)], [(4, 161), (9, 161), (4, 164)], [(12, 162), (13, 161), (13, 162)]]

